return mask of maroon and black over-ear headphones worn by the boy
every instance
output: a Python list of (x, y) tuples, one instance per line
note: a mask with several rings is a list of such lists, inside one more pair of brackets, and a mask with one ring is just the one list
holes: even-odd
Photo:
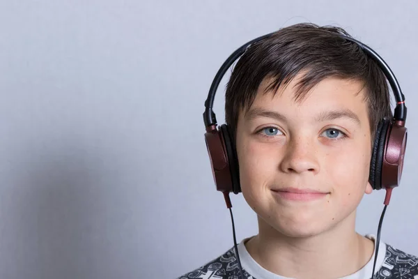
[[(238, 50), (235, 50), (231, 56), (219, 68), (215, 79), (210, 86), (208, 98), (205, 102), (206, 110), (203, 113), (203, 121), (205, 123), (206, 133), (205, 142), (212, 167), (213, 179), (218, 191), (229, 195), (233, 192), (238, 194), (241, 192), (240, 175), (238, 169), (238, 158), (236, 154), (235, 144), (231, 128), (227, 124), (217, 127), (215, 113), (212, 110), (213, 100), (217, 87), (235, 60), (245, 53), (247, 48), (265, 38), (272, 36), (275, 32), (255, 38), (245, 43)], [(396, 80), (394, 73), (387, 63), (370, 47), (360, 43), (358, 40), (337, 33), (338, 36), (359, 45), (362, 50), (376, 63), (385, 74), (396, 99), (396, 107), (393, 119), (381, 119), (376, 130), (376, 138), (373, 143), (371, 155), (369, 183), (374, 190), (384, 188), (388, 193), (399, 185), (401, 182), (403, 158), (405, 156), (405, 148), (407, 142), (407, 128), (405, 128), (407, 109), (405, 106), (405, 96), (401, 92), (401, 87)], [(389, 195), (390, 197), (390, 195)], [(387, 201), (386, 201), (387, 199)], [(385, 199), (389, 203), (389, 198)], [(228, 202), (227, 202), (228, 204)], [(230, 206), (229, 206), (230, 207)]]

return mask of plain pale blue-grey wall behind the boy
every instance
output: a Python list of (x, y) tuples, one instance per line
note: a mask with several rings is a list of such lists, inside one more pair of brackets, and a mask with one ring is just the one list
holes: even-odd
[[(233, 50), (297, 22), (346, 28), (398, 77), (409, 145), (382, 239), (418, 255), (417, 14), (405, 0), (2, 0), (0, 278), (176, 278), (230, 248), (203, 101)], [(359, 232), (376, 234), (383, 198), (364, 198)], [(232, 202), (238, 239), (256, 234)]]

